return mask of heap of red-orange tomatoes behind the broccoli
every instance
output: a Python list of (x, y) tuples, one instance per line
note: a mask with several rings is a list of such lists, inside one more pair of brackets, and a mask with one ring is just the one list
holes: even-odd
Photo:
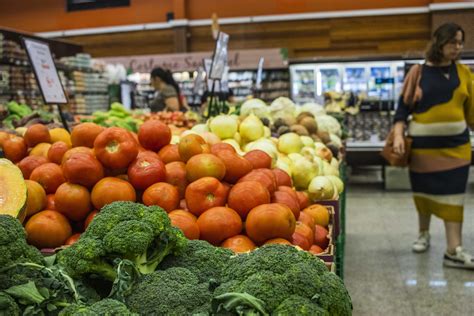
[(291, 177), (254, 150), (188, 134), (170, 144), (170, 128), (149, 120), (132, 133), (94, 123), (23, 137), (0, 135), (6, 158), (28, 187), (25, 229), (38, 248), (71, 244), (100, 209), (114, 201), (158, 205), (189, 239), (245, 252), (266, 243), (313, 253), (328, 246), (328, 210), (310, 205)]

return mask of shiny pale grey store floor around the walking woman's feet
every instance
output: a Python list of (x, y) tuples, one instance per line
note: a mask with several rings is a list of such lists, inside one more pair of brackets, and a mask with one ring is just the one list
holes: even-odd
[[(472, 186), (464, 223), (464, 244), (474, 253)], [(411, 252), (416, 232), (409, 192), (349, 188), (345, 283), (354, 315), (474, 315), (474, 271), (443, 268), (442, 222), (432, 221), (427, 253)]]

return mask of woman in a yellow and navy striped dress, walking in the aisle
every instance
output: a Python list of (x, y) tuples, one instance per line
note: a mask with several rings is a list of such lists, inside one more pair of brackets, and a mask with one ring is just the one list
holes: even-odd
[[(412, 115), (408, 124), (413, 139), (410, 180), (420, 229), (413, 251), (429, 248), (430, 219), (435, 215), (444, 220), (446, 228), (444, 265), (474, 269), (473, 256), (462, 247), (464, 195), (471, 164), (469, 127), (474, 127), (471, 73), (457, 62), (464, 39), (459, 25), (440, 26), (421, 66), (419, 82), (417, 67), (408, 72), (395, 115), (394, 150), (404, 153), (405, 124)], [(413, 110), (408, 104), (414, 104)]]

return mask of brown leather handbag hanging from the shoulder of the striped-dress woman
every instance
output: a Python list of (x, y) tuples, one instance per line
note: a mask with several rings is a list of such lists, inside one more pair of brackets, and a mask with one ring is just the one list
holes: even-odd
[[(416, 89), (418, 85), (420, 84), (420, 79), (421, 79), (421, 71), (423, 66), (422, 65), (414, 65), (413, 67), (416, 67), (413, 69), (413, 77), (412, 78), (407, 78), (404, 83), (403, 87), (403, 93), (405, 94), (405, 97), (408, 97), (408, 100), (406, 100), (406, 104), (410, 107), (410, 110), (412, 110), (415, 107), (415, 95), (416, 95)], [(407, 76), (408, 77), (408, 76)], [(405, 98), (406, 99), (406, 98)], [(395, 138), (395, 131), (394, 128), (390, 130), (390, 133), (387, 136), (387, 139), (385, 140), (385, 146), (380, 153), (387, 162), (394, 167), (407, 167), (408, 164), (410, 163), (410, 152), (411, 152), (411, 145), (413, 143), (413, 140), (411, 137), (404, 136), (404, 141), (405, 141), (405, 153), (403, 155), (397, 154), (394, 149), (393, 149), (393, 141)]]

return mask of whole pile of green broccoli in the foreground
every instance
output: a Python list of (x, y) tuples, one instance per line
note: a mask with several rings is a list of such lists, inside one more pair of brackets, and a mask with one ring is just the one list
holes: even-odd
[(312, 254), (266, 245), (235, 255), (188, 241), (156, 206), (106, 205), (49, 260), (25, 237), (0, 216), (0, 315), (352, 314), (343, 282)]

